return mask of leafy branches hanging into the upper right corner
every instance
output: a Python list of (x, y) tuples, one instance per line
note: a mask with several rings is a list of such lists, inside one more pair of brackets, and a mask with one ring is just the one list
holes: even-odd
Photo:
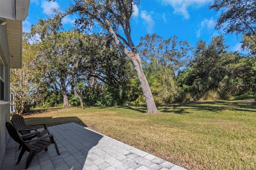
[(252, 49), (251, 52), (254, 54), (256, 45), (255, 0), (213, 0), (209, 8), (222, 12), (215, 28), (218, 30), (224, 28), (227, 34), (242, 34), (244, 36), (242, 47)]

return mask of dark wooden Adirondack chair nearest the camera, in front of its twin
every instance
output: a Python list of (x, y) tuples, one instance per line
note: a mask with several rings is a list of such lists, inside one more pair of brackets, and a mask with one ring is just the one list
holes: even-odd
[[(18, 157), (17, 164), (20, 162), (23, 154), (26, 151), (29, 152), (25, 169), (28, 168), (32, 159), (38, 152), (41, 152), (42, 150), (47, 151), (48, 150), (47, 147), (50, 146), (51, 144), (55, 145), (57, 154), (60, 155), (58, 146), (57, 146), (52, 134), (48, 134), (46, 136), (41, 136), (39, 138), (35, 138), (35, 139), (29, 140), (29, 141), (24, 141), (22, 139), (22, 137), (26, 137), (26, 135), (30, 135), (30, 134), (25, 134), (25, 135), (20, 136), (18, 129), (15, 128), (10, 122), (6, 122), (5, 125), (6, 125), (6, 128), (8, 130), (8, 133), (10, 134), (10, 136), (22, 146), (22, 149), (21, 149), (19, 157)], [(32, 133), (38, 133), (38, 132), (32, 132)]]

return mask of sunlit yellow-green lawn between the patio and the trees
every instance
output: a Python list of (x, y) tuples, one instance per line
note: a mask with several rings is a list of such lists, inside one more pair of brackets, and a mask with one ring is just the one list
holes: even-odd
[(28, 124), (75, 122), (187, 169), (256, 169), (256, 103), (200, 101), (146, 106), (33, 109)]

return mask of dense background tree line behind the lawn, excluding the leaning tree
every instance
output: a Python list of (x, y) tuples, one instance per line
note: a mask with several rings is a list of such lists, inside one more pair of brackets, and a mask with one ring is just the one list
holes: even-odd
[[(110, 36), (74, 30), (37, 43), (24, 40), (23, 67), (11, 72), (12, 91), (22, 94), (19, 87), (29, 92), (23, 106), (22, 97), (15, 95), (20, 113), (28, 104), (56, 107), (145, 102), (131, 63)], [(156, 103), (233, 99), (244, 94), (253, 97), (256, 58), (227, 51), (227, 47), (224, 36), (213, 37), (209, 44), (200, 40), (195, 47), (176, 36), (168, 40), (156, 34), (142, 37), (138, 49)]]

